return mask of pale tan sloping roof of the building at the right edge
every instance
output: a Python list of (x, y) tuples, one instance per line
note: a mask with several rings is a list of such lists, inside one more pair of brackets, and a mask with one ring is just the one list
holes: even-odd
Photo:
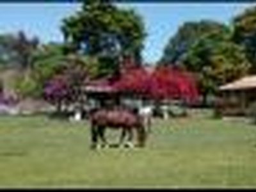
[(232, 83), (224, 84), (220, 86), (221, 91), (225, 90), (245, 90), (245, 89), (252, 89), (256, 88), (256, 76), (247, 76)]

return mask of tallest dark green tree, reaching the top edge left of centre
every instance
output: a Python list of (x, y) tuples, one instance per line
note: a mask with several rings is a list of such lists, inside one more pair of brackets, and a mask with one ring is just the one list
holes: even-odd
[(134, 10), (122, 10), (110, 1), (84, 1), (79, 12), (63, 19), (65, 51), (99, 58), (102, 76), (118, 70), (122, 54), (141, 61), (145, 29)]

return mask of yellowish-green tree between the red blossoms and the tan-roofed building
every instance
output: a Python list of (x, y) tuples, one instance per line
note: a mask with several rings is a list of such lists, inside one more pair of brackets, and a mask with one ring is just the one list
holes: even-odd
[(214, 95), (221, 84), (248, 74), (251, 67), (244, 47), (230, 40), (203, 36), (182, 57), (182, 65), (197, 74), (204, 99)]

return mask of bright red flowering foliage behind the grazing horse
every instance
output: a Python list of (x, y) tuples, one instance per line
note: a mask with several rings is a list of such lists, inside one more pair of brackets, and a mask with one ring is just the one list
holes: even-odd
[(152, 73), (137, 67), (126, 70), (114, 84), (120, 92), (131, 92), (151, 99), (198, 99), (195, 78), (185, 70), (159, 67)]

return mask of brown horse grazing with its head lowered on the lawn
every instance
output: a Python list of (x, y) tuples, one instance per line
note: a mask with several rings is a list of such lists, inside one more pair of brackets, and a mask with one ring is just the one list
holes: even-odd
[(125, 134), (129, 133), (129, 141), (132, 140), (132, 131), (137, 132), (138, 147), (144, 147), (146, 141), (146, 130), (141, 116), (128, 109), (97, 109), (90, 115), (92, 148), (97, 147), (99, 138), (103, 146), (107, 145), (104, 138), (106, 128), (122, 129), (120, 144), (123, 143)]

